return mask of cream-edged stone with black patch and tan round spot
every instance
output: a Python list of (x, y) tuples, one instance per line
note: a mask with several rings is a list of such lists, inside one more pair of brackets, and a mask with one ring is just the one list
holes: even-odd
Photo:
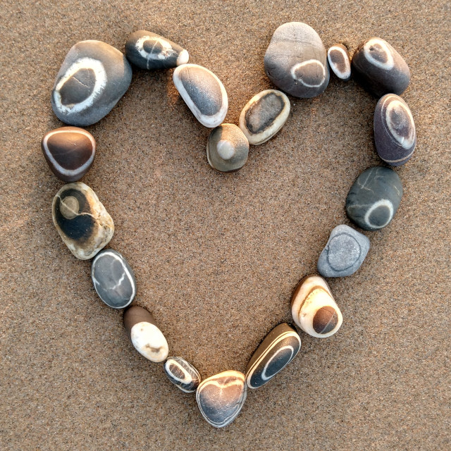
[(94, 257), (113, 237), (113, 219), (85, 183), (64, 185), (51, 205), (56, 230), (75, 257)]

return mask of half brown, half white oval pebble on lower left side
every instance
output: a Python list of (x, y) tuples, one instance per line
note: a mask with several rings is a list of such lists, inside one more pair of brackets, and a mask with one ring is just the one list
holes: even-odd
[(152, 314), (134, 305), (124, 312), (124, 326), (135, 350), (151, 362), (163, 362), (169, 354), (166, 338)]

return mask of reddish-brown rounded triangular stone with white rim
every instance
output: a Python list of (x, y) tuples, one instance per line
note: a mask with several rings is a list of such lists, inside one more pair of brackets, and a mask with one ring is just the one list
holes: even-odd
[(76, 182), (92, 166), (96, 141), (82, 128), (61, 127), (44, 135), (41, 149), (56, 177), (64, 182)]

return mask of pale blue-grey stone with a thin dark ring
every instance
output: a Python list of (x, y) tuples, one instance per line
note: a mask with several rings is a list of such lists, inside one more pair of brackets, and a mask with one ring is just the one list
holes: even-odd
[(335, 227), (319, 256), (318, 271), (324, 277), (345, 277), (362, 266), (369, 251), (369, 239), (350, 226)]

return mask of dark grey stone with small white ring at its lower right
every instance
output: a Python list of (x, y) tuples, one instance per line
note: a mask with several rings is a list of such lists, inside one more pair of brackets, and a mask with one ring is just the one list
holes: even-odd
[(390, 223), (400, 206), (402, 183), (390, 168), (374, 166), (357, 177), (346, 198), (346, 213), (364, 230), (378, 230)]

